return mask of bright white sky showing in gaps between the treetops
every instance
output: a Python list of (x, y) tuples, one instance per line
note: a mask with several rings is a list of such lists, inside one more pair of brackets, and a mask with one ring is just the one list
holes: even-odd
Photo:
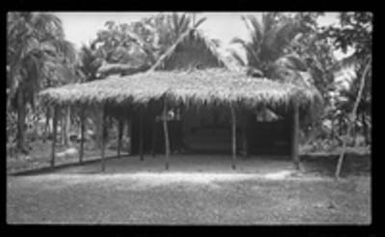
[[(98, 30), (104, 28), (106, 21), (117, 23), (129, 23), (142, 17), (156, 14), (157, 12), (54, 12), (63, 22), (67, 40), (80, 48), (82, 44), (88, 44), (96, 38)], [(209, 38), (216, 38), (222, 42), (224, 48), (228, 47), (234, 37), (247, 39), (248, 33), (241, 20), (241, 15), (259, 12), (200, 12), (197, 18), (207, 17), (200, 26)], [(337, 22), (337, 13), (326, 13), (319, 19), (320, 25), (330, 25)], [(337, 57), (341, 54), (337, 53)]]

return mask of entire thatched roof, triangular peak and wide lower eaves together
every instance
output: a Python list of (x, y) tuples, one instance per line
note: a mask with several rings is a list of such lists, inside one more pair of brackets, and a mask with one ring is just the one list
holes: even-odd
[(229, 69), (213, 42), (192, 29), (184, 33), (145, 73), (50, 88), (40, 93), (53, 104), (229, 104), (255, 108), (290, 106), (296, 100), (310, 111), (322, 104), (317, 90), (290, 82), (253, 78)]

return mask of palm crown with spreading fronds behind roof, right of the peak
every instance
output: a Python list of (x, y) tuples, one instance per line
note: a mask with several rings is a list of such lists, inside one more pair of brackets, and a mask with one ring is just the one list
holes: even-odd
[(249, 74), (268, 78), (281, 78), (287, 69), (306, 71), (305, 63), (295, 54), (287, 51), (291, 41), (301, 33), (300, 24), (279, 13), (265, 13), (259, 21), (255, 16), (242, 16), (250, 34), (250, 41), (234, 38), (232, 43), (240, 44), (246, 52), (247, 61), (235, 51), (233, 57)]

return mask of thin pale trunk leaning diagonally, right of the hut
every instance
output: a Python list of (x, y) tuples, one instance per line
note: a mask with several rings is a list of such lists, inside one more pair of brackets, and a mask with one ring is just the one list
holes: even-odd
[[(366, 77), (366, 74), (369, 71), (371, 62), (372, 62), (372, 58), (370, 57), (369, 60), (368, 60), (368, 63), (366, 64), (365, 70), (364, 70), (364, 72), (362, 74), (362, 77), (361, 77), (361, 84), (360, 84), (360, 88), (359, 88), (359, 91), (358, 91), (357, 99), (356, 99), (356, 101), (354, 103), (353, 111), (352, 111), (352, 114), (350, 116), (350, 121), (349, 121), (348, 128), (347, 128), (347, 136), (350, 135), (351, 129), (354, 126), (354, 123), (356, 121), (356, 114), (357, 114), (358, 104), (360, 103), (360, 100), (361, 100), (361, 97), (362, 97), (362, 92), (363, 92), (364, 86), (365, 86), (365, 77)], [(336, 172), (335, 172), (335, 178), (336, 179), (339, 179), (339, 177), (340, 177), (342, 162), (343, 162), (344, 155), (345, 155), (345, 152), (346, 152), (346, 145), (347, 145), (347, 139), (344, 139), (343, 140), (342, 151), (341, 151), (340, 157), (338, 158), (337, 169), (336, 169)]]

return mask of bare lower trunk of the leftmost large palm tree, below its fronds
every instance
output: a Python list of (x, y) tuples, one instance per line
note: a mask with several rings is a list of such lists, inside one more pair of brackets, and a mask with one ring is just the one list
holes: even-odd
[(17, 92), (17, 149), (27, 153), (25, 149), (25, 116), (26, 108), (23, 93)]

